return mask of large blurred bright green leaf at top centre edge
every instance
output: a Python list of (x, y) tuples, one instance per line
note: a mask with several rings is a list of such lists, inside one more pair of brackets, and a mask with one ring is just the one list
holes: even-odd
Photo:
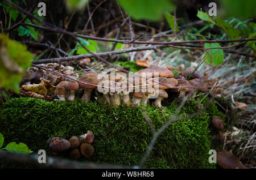
[(175, 8), (168, 0), (118, 0), (118, 3), (136, 20), (157, 21), (164, 12), (172, 12)]

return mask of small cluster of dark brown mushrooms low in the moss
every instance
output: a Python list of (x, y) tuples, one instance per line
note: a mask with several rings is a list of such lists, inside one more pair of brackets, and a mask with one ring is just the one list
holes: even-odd
[(63, 138), (50, 138), (47, 140), (47, 145), (52, 155), (59, 155), (59, 153), (69, 150), (69, 158), (72, 160), (79, 160), (82, 156), (91, 157), (94, 154), (94, 147), (92, 142), (94, 134), (88, 130), (86, 134), (72, 136), (69, 140)]

